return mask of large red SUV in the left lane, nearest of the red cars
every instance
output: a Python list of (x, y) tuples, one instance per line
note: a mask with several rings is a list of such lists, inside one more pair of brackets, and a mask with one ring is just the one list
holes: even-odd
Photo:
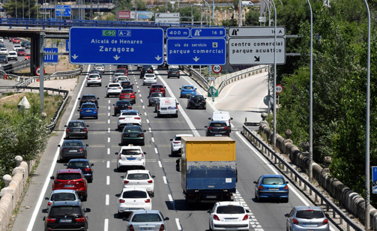
[(59, 170), (56, 177), (51, 177), (54, 182), (52, 183), (52, 190), (70, 189), (76, 191), (79, 196), (83, 197), (86, 201), (88, 197), (87, 186), (88, 183), (80, 169), (63, 169)]

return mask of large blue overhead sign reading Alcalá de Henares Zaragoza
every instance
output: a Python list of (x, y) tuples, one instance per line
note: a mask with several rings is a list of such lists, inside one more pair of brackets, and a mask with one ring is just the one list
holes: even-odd
[(141, 64), (164, 62), (162, 28), (71, 27), (72, 64)]

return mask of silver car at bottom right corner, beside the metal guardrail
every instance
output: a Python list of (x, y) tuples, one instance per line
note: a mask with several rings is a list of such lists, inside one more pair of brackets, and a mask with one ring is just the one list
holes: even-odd
[(327, 214), (320, 207), (297, 206), (287, 217), (287, 230), (289, 231), (329, 231), (330, 225)]

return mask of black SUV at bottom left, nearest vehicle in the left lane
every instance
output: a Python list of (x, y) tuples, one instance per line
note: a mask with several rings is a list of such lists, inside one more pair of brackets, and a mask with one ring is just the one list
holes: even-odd
[(80, 201), (55, 201), (45, 217), (44, 230), (88, 231), (88, 212)]

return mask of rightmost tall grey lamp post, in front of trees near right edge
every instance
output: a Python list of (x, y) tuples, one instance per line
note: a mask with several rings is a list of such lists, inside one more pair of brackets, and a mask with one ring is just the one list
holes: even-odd
[(371, 107), (371, 13), (367, 0), (364, 0), (368, 12), (368, 51), (367, 51), (367, 125), (365, 139), (365, 229), (370, 230), (370, 163), (369, 163), (369, 136), (370, 136), (370, 107)]

